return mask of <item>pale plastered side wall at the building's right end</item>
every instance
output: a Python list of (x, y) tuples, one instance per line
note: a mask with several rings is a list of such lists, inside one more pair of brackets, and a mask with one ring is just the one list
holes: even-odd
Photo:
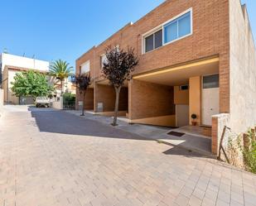
[(246, 7), (230, 8), (230, 127), (246, 132), (256, 124), (256, 53)]

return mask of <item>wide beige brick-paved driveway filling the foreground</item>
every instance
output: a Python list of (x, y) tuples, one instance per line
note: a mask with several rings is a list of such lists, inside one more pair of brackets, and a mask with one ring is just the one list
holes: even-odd
[(52, 109), (0, 117), (0, 205), (256, 205), (256, 176)]

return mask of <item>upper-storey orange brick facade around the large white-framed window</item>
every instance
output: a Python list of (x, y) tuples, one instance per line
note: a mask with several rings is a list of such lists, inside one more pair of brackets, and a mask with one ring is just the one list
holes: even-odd
[[(167, 22), (187, 9), (193, 9), (193, 35), (142, 55), (142, 35)], [(111, 26), (111, 25), (109, 25)], [(77, 68), (91, 60), (91, 74), (102, 79), (100, 55), (106, 46), (133, 46), (139, 65), (133, 74), (199, 60), (211, 55), (220, 56), (220, 113), (229, 112), (229, 0), (167, 0), (133, 25), (124, 26), (76, 61)]]

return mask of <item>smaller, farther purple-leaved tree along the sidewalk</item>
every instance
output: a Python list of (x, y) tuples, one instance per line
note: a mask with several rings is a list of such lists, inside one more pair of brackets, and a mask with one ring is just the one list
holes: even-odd
[(83, 108), (81, 116), (85, 116), (85, 94), (90, 85), (90, 80), (89, 74), (79, 74), (75, 76), (75, 84), (80, 90), (80, 94), (83, 94)]

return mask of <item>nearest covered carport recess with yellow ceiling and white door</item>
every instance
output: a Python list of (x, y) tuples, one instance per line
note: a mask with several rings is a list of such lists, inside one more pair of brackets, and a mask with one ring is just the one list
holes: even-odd
[(220, 113), (219, 57), (134, 75), (128, 90), (131, 122), (210, 136), (211, 116)]

